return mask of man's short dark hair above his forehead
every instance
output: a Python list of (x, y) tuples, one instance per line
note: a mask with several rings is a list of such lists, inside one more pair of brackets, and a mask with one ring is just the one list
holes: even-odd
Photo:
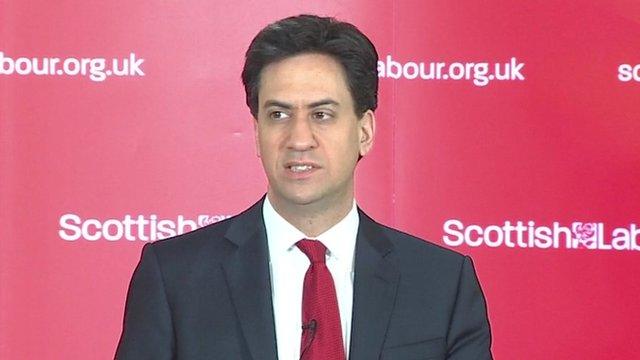
[(258, 118), (260, 72), (274, 62), (304, 54), (333, 57), (344, 68), (358, 118), (378, 106), (378, 53), (352, 24), (331, 17), (299, 15), (262, 29), (251, 41), (242, 70), (242, 83), (251, 114)]

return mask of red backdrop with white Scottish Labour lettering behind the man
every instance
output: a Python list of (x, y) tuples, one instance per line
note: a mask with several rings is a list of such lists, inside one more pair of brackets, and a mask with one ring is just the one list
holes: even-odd
[(376, 43), (358, 201), (473, 256), (495, 357), (640, 353), (638, 2), (0, 6), (0, 358), (111, 358), (141, 246), (265, 191), (243, 54), (303, 12)]

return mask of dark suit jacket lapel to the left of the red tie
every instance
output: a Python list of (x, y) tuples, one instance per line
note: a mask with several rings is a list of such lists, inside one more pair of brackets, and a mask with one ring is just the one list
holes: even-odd
[(222, 266), (252, 358), (275, 360), (269, 251), (262, 202), (239, 215), (229, 226), (226, 238), (236, 247)]

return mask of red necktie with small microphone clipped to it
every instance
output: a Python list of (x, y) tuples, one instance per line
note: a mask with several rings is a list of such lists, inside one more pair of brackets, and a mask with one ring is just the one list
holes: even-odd
[(325, 263), (327, 248), (316, 240), (300, 240), (298, 248), (311, 265), (302, 291), (302, 360), (345, 360), (338, 297)]

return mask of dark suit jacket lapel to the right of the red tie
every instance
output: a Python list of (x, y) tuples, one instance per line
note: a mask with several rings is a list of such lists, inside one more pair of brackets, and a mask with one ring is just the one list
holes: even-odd
[(378, 359), (393, 311), (400, 273), (391, 261), (393, 245), (365, 213), (359, 211), (353, 283), (349, 359)]

